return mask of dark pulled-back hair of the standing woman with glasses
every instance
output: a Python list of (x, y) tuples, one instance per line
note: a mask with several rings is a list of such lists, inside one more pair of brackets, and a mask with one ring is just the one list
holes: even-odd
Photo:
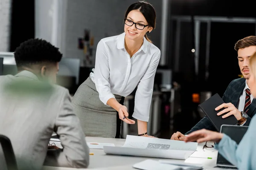
[[(145, 2), (145, 1), (139, 1), (137, 3), (131, 4), (131, 6), (129, 6), (129, 8), (127, 9), (127, 11), (125, 13), (125, 18), (129, 14), (129, 12), (131, 12), (133, 10), (139, 10), (143, 14), (145, 19), (147, 20), (149, 26), (151, 26), (153, 29), (155, 28), (155, 26), (156, 26), (156, 11), (154, 10), (154, 7), (150, 3)], [(145, 34), (145, 38), (149, 42), (151, 42), (151, 40), (147, 37), (146, 34)]]

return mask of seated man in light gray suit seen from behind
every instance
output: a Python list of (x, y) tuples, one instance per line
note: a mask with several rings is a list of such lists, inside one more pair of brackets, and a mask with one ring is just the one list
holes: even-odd
[[(49, 42), (31, 39), (15, 50), (18, 74), (0, 76), (0, 134), (11, 140), (19, 170), (89, 164), (89, 148), (69, 92), (52, 84), (61, 57)], [(54, 132), (63, 149), (48, 148)], [(0, 147), (0, 170), (4, 169)]]

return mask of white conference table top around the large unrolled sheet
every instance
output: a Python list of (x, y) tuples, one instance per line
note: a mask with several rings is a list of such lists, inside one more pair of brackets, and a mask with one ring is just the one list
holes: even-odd
[[(122, 146), (125, 143), (125, 139), (114, 139), (114, 138), (101, 138), (101, 137), (86, 137), (86, 142), (97, 142), (97, 143), (113, 143), (115, 146)], [(55, 142), (56, 146), (58, 144)], [(218, 150), (214, 148), (204, 148), (205, 143), (198, 144), (197, 150), (186, 160), (178, 159), (161, 159), (170, 160), (178, 163), (192, 163), (202, 164), (204, 170), (221, 170), (221, 168), (214, 168), (216, 166)], [(61, 146), (61, 145), (60, 145)], [(67, 167), (49, 167), (44, 166), (43, 170), (136, 170), (132, 166), (135, 163), (144, 161), (146, 159), (160, 160), (160, 158), (149, 158), (149, 157), (137, 157), (137, 156), (120, 156), (120, 155), (107, 155), (103, 149), (90, 149), (90, 164), (88, 168), (67, 168)], [(209, 159), (211, 158), (211, 159)]]

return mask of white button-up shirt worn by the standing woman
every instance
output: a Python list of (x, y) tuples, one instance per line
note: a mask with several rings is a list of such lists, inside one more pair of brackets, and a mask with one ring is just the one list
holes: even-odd
[(99, 99), (107, 105), (109, 99), (115, 98), (113, 94), (126, 97), (138, 86), (133, 117), (148, 122), (159, 60), (160, 50), (145, 37), (143, 45), (132, 57), (125, 50), (125, 33), (100, 40), (95, 69), (90, 73)]

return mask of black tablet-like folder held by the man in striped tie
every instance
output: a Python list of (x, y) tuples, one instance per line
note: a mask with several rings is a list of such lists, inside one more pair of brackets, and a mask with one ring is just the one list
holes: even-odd
[(217, 113), (224, 110), (225, 108), (222, 108), (218, 111), (215, 111), (215, 108), (217, 108), (219, 105), (223, 104), (224, 101), (221, 99), (221, 97), (218, 94), (213, 95), (203, 103), (199, 105), (199, 108), (202, 109), (204, 114), (210, 119), (214, 127), (220, 132), (221, 125), (236, 125), (237, 120), (234, 115), (228, 116), (226, 118), (222, 118), (222, 115), (218, 116)]

